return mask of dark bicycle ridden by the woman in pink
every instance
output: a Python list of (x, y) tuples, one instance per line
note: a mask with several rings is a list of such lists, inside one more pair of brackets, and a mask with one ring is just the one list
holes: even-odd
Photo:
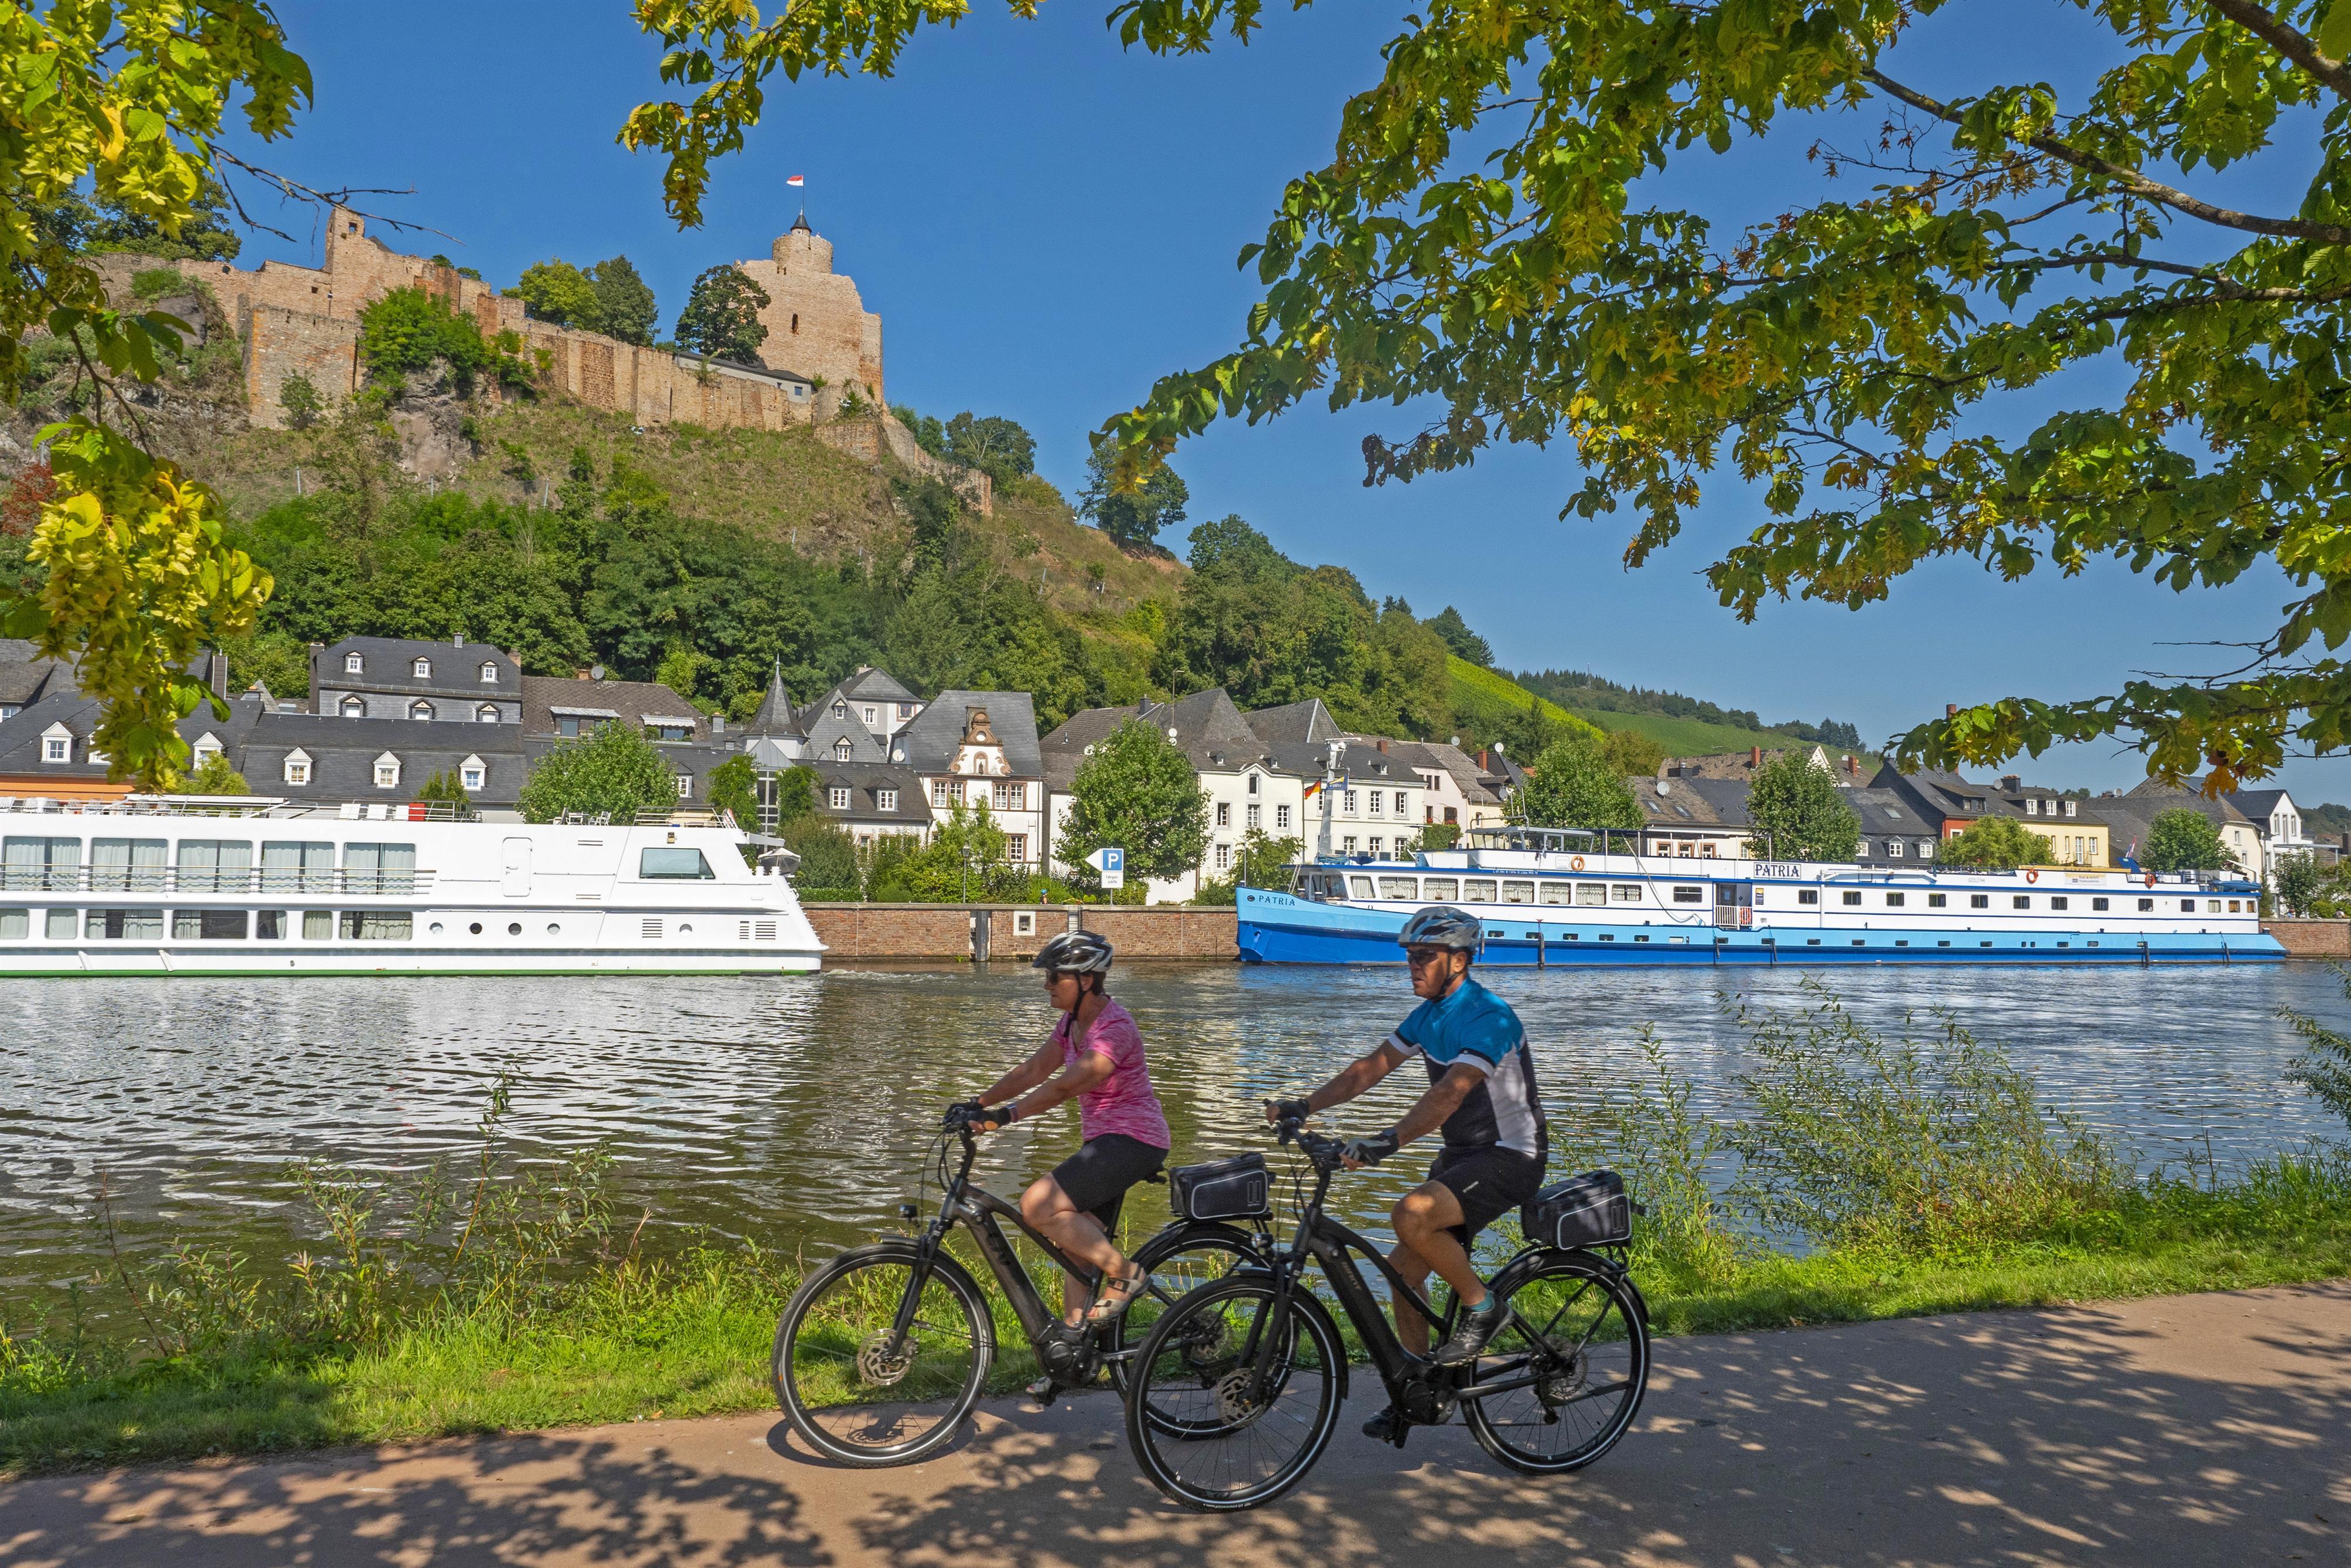
[[(947, 1173), (947, 1138), (964, 1152)], [(1063, 1328), (1027, 1269), (1004, 1239), (1011, 1220), (1060, 1269), (1100, 1286), (1096, 1269), (1072, 1262), (1037, 1234), (1020, 1208), (971, 1180), (978, 1143), (969, 1126), (940, 1131), (936, 1173), (938, 1215), (912, 1239), (858, 1246), (806, 1281), (776, 1324), (771, 1375), (776, 1401), (792, 1429), (828, 1460), (856, 1467), (912, 1465), (955, 1441), (987, 1387), (997, 1338), (987, 1298), (952, 1253), (947, 1234), (962, 1225), (1011, 1302), (1020, 1333), (1053, 1378), (1053, 1394), (1084, 1387), (1110, 1368), (1124, 1389), (1126, 1363), (1140, 1331), (1157, 1312), (1234, 1265), (1262, 1262), (1272, 1232), (1178, 1218), (1133, 1262), (1152, 1284), (1124, 1316), (1103, 1326)], [(1159, 1180), (1159, 1178), (1154, 1178)], [(917, 1218), (905, 1204), (900, 1218)], [(1051, 1399), (1051, 1396), (1049, 1396)]]

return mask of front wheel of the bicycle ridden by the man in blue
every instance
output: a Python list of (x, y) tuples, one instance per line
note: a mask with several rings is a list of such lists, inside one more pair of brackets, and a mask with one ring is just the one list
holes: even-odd
[[(1279, 1342), (1260, 1359), (1270, 1333)], [(1152, 1324), (1126, 1389), (1126, 1441), (1176, 1502), (1253, 1509), (1298, 1486), (1331, 1446), (1345, 1371), (1338, 1328), (1305, 1288), (1277, 1331), (1272, 1276), (1234, 1274)]]

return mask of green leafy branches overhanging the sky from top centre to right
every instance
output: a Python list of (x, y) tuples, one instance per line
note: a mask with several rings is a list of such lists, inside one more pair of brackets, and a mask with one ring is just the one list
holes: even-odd
[[(696, 223), (769, 75), (889, 75), (915, 28), (966, 9), (644, 0), (663, 80), (694, 92), (639, 106), (623, 141), (668, 155), (670, 212)], [(1432, 409), (1366, 437), (1366, 484), (1570, 444), (1563, 512), (1629, 508), (1629, 564), (1716, 475), (1751, 487), (1768, 520), (1707, 569), (1744, 618), (1773, 597), (1862, 607), (1951, 555), (2010, 581), (2109, 557), (2175, 590), (2266, 562), (2297, 597), (2248, 670), (1963, 708), (1900, 759), (2125, 733), (2154, 776), (2208, 769), (2219, 792), (2290, 743), (2342, 750), (2351, 7), (2081, 9), (2109, 38), (2078, 87), (1928, 92), (1947, 71), (1918, 31), (1965, 26), (1937, 0), (1425, 7), (1244, 247), (1262, 299), (1241, 343), (1117, 421), (1121, 482), (1218, 418), (1317, 397)], [(1112, 26), (1183, 54), (1246, 40), (1260, 12), (1128, 0)], [(1641, 183), (1763, 139), (1813, 141), (1836, 183), (1735, 228)], [(2241, 209), (2264, 153), (2299, 200)]]

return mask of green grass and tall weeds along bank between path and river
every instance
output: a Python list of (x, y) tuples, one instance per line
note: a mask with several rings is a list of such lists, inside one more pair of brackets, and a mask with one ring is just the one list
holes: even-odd
[[(1742, 1023), (1740, 1105), (1700, 1114), (1648, 1041), (1646, 1079), (1556, 1128), (1554, 1168), (1622, 1171), (1641, 1199), (1632, 1269), (1660, 1333), (2351, 1274), (2342, 1145), (2142, 1173), (1947, 1018), (1888, 1039), (1815, 992)], [(2351, 1041), (2299, 1025), (2297, 1077), (2351, 1114), (2351, 1074), (2327, 1077)], [(0, 1476), (771, 1410), (797, 1260), (642, 1255), (644, 1218), (614, 1225), (607, 1152), (520, 1154), (508, 1093), (463, 1166), (292, 1166), (299, 1218), (275, 1269), (190, 1246), (125, 1258), (101, 1204), (106, 1265), (38, 1324), (0, 1324)], [(1509, 1251), (1509, 1222), (1491, 1244)], [(1009, 1394), (1034, 1363), (990, 1298), (992, 1392)]]

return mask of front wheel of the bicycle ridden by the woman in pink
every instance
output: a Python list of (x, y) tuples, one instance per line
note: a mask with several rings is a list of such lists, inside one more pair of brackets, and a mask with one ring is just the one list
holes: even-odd
[(980, 1399), (994, 1324), (955, 1258), (931, 1258), (912, 1324), (891, 1333), (919, 1258), (912, 1241), (842, 1253), (799, 1286), (776, 1324), (776, 1403), (828, 1460), (910, 1465), (952, 1443)]

